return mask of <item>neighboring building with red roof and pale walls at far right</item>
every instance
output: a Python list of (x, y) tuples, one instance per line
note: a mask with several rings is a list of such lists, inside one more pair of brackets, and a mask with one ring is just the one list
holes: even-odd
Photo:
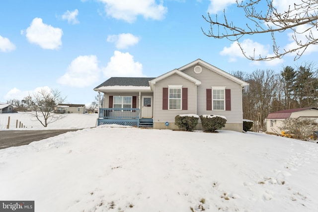
[(281, 110), (268, 114), (265, 119), (268, 133), (281, 134), (283, 121), (289, 118), (310, 118), (318, 120), (318, 109), (314, 107)]

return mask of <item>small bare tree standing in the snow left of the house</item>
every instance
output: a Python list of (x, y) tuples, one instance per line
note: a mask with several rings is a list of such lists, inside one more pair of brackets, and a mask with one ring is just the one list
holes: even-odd
[(30, 114), (44, 127), (47, 127), (48, 124), (65, 117), (64, 115), (54, 113), (55, 107), (63, 103), (65, 99), (58, 90), (47, 91), (41, 89), (39, 92), (29, 94), (22, 101), (34, 110)]

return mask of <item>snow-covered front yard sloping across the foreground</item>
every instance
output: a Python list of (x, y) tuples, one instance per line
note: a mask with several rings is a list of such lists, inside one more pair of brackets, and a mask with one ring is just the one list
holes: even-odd
[(0, 150), (0, 200), (36, 212), (314, 212), (317, 178), (317, 143), (256, 133), (108, 125)]

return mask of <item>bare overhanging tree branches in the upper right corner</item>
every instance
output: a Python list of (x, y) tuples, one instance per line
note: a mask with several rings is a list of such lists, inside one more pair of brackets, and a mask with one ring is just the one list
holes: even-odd
[[(318, 0), (300, 0), (300, 3), (291, 2), (286, 5), (285, 11), (279, 11), (274, 6), (273, 0), (266, 0), (267, 9), (264, 11), (261, 6), (266, 6), (264, 0), (236, 0), (237, 6), (243, 9), (246, 16), (244, 26), (239, 26), (233, 21), (228, 21), (224, 10), (224, 21), (219, 22), (218, 16), (212, 19), (211, 15), (203, 18), (210, 23), (210, 29), (205, 31), (202, 27), (203, 34), (213, 38), (227, 38), (231, 41), (238, 42), (239, 48), (243, 55), (252, 61), (269, 61), (282, 58), (284, 55), (296, 52), (294, 60), (299, 59), (310, 45), (318, 44)], [(302, 26), (302, 27), (300, 27)], [(277, 33), (284, 31), (292, 32), (292, 39), (296, 46), (281, 49), (276, 42)], [(242, 47), (240, 39), (244, 35), (270, 34), (272, 37), (272, 48), (274, 56), (247, 55)]]

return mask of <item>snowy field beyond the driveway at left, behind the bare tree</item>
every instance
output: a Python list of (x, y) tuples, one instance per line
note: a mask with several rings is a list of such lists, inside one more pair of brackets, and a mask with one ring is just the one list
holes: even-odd
[[(49, 124), (46, 128), (30, 113), (3, 113), (0, 114), (0, 130), (6, 130), (8, 117), (10, 117), (9, 130), (60, 130), (60, 129), (82, 129), (96, 127), (97, 114), (62, 114), (63, 119)], [(18, 120), (18, 122), (16, 122)], [(24, 128), (19, 128), (23, 124)], [(16, 125), (16, 123), (18, 123)], [(43, 122), (44, 123), (44, 122)], [(17, 128), (16, 128), (17, 126)]]

